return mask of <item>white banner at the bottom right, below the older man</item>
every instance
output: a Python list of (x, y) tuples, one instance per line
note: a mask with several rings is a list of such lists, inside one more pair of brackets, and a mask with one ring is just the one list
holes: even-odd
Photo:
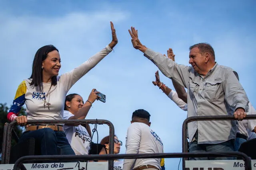
[[(244, 170), (243, 160), (186, 160), (186, 170)], [(256, 160), (252, 160), (256, 170)]]

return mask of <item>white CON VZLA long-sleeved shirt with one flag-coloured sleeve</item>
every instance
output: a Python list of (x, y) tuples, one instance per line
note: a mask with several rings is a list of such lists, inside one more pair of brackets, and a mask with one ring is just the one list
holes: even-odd
[[(26, 104), (28, 120), (34, 119), (62, 119), (64, 101), (68, 90), (90, 69), (98, 64), (112, 49), (107, 45), (100, 52), (90, 57), (86, 62), (70, 72), (57, 76), (57, 85), (51, 87), (51, 82), (30, 86), (32, 80), (26, 79), (19, 85), (9, 112), (11, 121), (17, 117), (21, 107)], [(48, 95), (47, 95), (48, 94)], [(49, 102), (50, 105), (44, 106)]]

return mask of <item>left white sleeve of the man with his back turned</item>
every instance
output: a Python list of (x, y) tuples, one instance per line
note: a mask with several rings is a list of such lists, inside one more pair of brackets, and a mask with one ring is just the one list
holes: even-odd
[[(139, 152), (141, 139), (141, 127), (138, 123), (132, 123), (127, 130), (126, 154), (136, 154)], [(135, 159), (124, 159), (123, 170), (131, 170)]]

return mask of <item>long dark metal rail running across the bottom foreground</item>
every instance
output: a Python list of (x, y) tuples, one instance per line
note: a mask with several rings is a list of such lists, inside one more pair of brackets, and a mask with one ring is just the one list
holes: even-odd
[[(114, 159), (134, 159), (134, 158), (188, 158), (205, 156), (237, 156), (244, 160), (245, 170), (252, 170), (251, 159), (242, 152), (201, 152), (201, 153), (155, 153), (155, 154), (105, 154), (105, 155), (41, 155), (23, 156), (14, 164), (14, 170), (19, 170), (22, 162), (28, 160), (114, 160)], [(24, 166), (23, 166), (24, 169)], [(113, 169), (113, 167), (112, 167)], [(109, 169), (109, 170), (112, 170)]]

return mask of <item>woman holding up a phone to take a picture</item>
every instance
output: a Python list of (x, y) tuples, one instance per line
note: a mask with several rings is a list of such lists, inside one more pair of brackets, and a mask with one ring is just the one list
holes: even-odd
[[(99, 98), (97, 95), (98, 92), (94, 92), (95, 90), (96, 89), (92, 89), (85, 103), (83, 98), (78, 94), (69, 94), (66, 96), (63, 119), (84, 119), (92, 104)], [(64, 125), (64, 132), (76, 155), (89, 154), (90, 146), (93, 148), (97, 147), (95, 146), (96, 144), (91, 144), (91, 131), (88, 124), (86, 124), (86, 126)], [(103, 146), (99, 146), (98, 153), (94, 154), (106, 154), (106, 151), (102, 149)]]

